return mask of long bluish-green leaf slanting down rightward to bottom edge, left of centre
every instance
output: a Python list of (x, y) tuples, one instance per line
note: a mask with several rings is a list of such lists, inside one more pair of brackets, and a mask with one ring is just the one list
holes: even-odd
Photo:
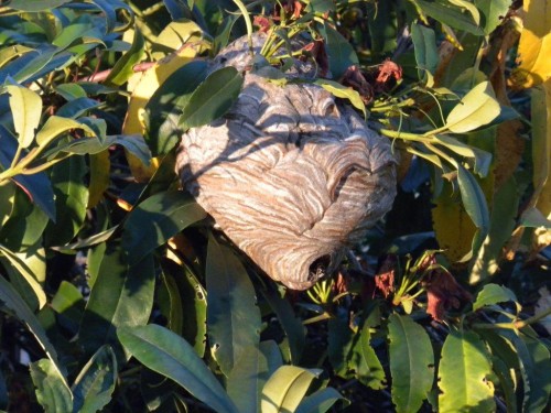
[(212, 371), (182, 337), (154, 324), (120, 328), (117, 335), (138, 361), (174, 380), (216, 412), (238, 412)]

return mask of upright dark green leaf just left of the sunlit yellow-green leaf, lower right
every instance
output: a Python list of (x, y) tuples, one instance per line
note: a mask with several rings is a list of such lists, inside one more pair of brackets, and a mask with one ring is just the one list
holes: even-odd
[(392, 403), (397, 412), (417, 412), (434, 381), (434, 354), (426, 332), (410, 316), (389, 317)]

